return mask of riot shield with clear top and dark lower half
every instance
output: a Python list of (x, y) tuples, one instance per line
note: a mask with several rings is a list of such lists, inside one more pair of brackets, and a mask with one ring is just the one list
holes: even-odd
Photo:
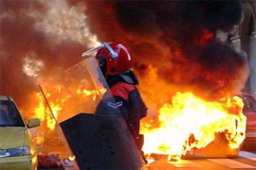
[[(90, 55), (40, 84), (49, 108), (41, 151), (54, 152), (57, 144), (53, 141), (51, 147), (46, 139), (58, 138), (66, 152), (62, 155), (75, 155), (80, 169), (140, 169), (142, 156), (120, 112), (106, 107), (103, 98), (108, 95), (113, 102), (114, 98), (98, 61)], [(105, 107), (95, 114), (99, 104)]]

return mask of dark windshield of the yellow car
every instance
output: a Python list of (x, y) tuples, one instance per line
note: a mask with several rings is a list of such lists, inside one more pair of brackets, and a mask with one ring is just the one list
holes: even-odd
[(11, 100), (0, 100), (0, 126), (25, 126), (19, 111)]

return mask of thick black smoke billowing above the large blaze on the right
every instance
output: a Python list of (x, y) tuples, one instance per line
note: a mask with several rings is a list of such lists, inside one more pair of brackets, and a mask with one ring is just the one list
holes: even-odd
[(242, 22), (241, 1), (88, 2), (88, 11), (103, 41), (129, 45), (142, 78), (152, 65), (160, 79), (174, 86), (172, 91), (193, 91), (208, 99), (244, 87), (246, 55), (234, 51), (228, 39), (216, 38), (218, 31), (234, 33)]

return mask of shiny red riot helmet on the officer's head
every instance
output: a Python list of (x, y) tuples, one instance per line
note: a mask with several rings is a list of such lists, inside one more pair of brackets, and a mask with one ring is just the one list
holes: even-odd
[(132, 56), (120, 42), (104, 42), (96, 57), (106, 59), (106, 72), (108, 75), (118, 75), (132, 68)]

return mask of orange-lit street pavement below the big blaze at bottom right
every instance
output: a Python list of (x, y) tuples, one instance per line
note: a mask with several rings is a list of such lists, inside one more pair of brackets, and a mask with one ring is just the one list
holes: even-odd
[(142, 169), (256, 169), (256, 152), (240, 151), (237, 158), (215, 158), (179, 161), (156, 160), (150, 164), (145, 165)]

